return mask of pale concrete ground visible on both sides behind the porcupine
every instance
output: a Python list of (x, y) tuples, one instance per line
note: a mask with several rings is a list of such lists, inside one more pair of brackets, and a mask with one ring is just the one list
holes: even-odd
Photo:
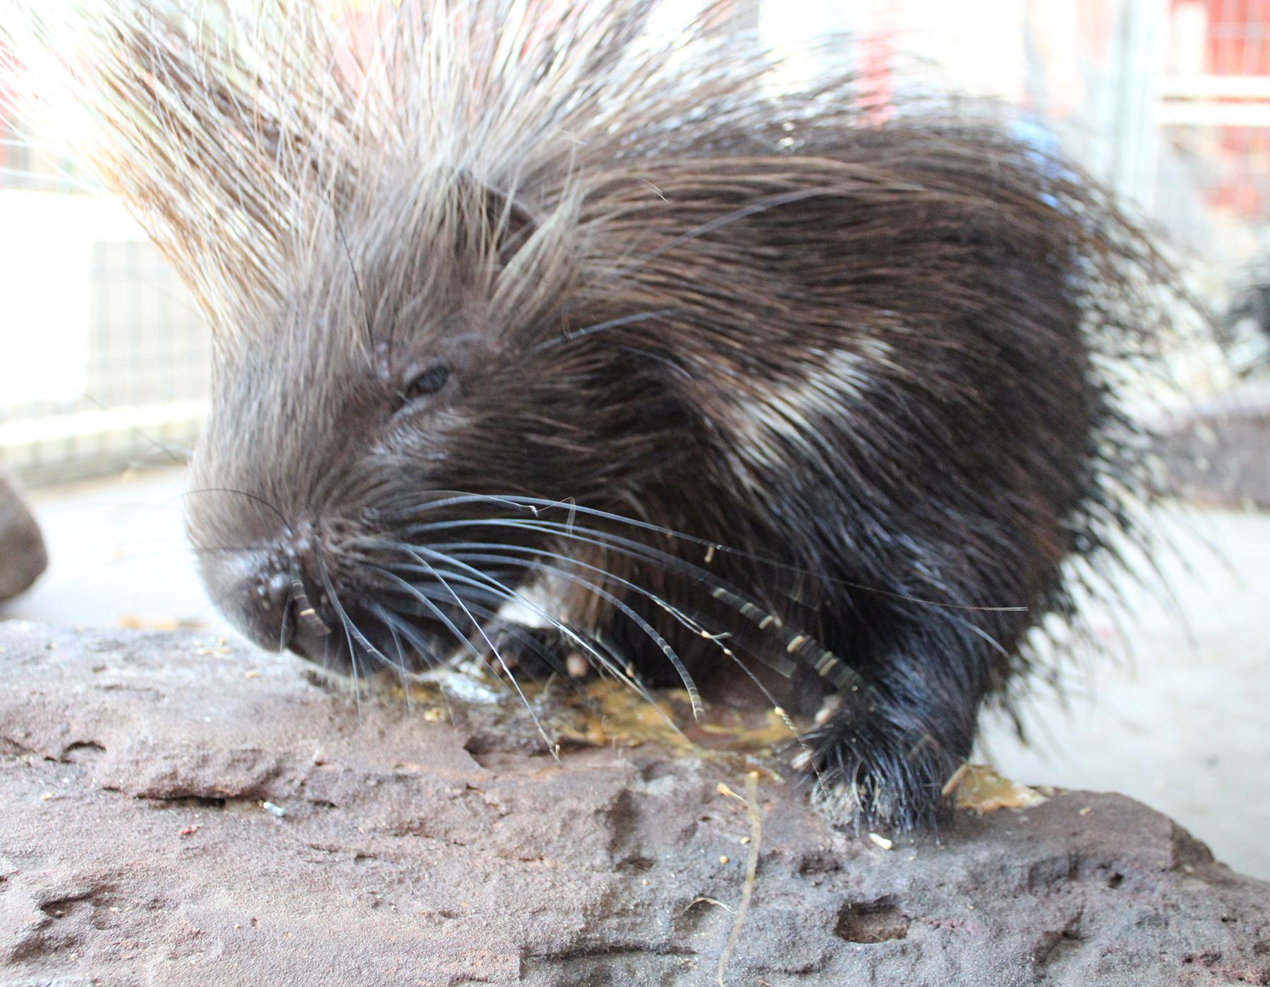
[[(224, 628), (180, 524), (183, 472), (33, 491), (48, 573), (0, 618)], [(1193, 511), (1165, 521), (1177, 605), (1126, 587), (1132, 667), (1069, 679), (1069, 709), (1040, 696), (1031, 747), (993, 719), (983, 754), (1020, 781), (1123, 792), (1168, 813), (1237, 870), (1270, 879), (1270, 515)], [(1111, 651), (1115, 624), (1092, 614)], [(227, 628), (226, 628), (227, 629)]]

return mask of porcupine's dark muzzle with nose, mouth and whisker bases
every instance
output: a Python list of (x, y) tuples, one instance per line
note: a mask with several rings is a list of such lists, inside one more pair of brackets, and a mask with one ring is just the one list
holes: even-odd
[[(464, 510), (446, 510), (455, 506)], [(537, 529), (554, 523), (526, 511), (532, 529), (522, 533), (523, 519), (505, 511), (500, 500), (432, 492), (357, 524), (326, 519), (319, 530), (292, 521), (287, 539), (210, 566), (204, 581), (258, 644), (337, 674), (414, 674), (464, 655), (480, 661), (497, 655), (499, 628), (525, 622), (503, 610), (521, 600), (537, 563), (514, 553), (531, 552), (544, 540)]]

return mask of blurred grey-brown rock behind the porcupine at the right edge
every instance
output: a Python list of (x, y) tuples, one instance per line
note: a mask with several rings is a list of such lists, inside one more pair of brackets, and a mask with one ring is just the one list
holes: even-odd
[(1170, 486), (1201, 504), (1270, 507), (1270, 381), (1179, 414), (1165, 426)]

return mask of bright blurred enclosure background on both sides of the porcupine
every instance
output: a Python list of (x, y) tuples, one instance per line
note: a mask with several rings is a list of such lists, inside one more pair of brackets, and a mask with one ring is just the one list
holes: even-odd
[[(683, 8), (668, 10), (674, 30)], [(994, 722), (983, 754), (1022, 781), (1134, 795), (1270, 878), (1270, 0), (735, 0), (719, 15), (782, 49), (791, 86), (848, 58), (884, 99), (903, 99), (900, 70), (1021, 107), (1184, 258), (1224, 349), (1176, 354), (1175, 599), (1126, 587), (1132, 619), (1095, 624), (1135, 660), (1073, 670), (1068, 708), (1027, 710), (1031, 747)], [(852, 41), (814, 43), (837, 32)], [(180, 529), (207, 332), (123, 209), (38, 123), (23, 132), (0, 89), (0, 468), (50, 554), (0, 618), (229, 633)]]

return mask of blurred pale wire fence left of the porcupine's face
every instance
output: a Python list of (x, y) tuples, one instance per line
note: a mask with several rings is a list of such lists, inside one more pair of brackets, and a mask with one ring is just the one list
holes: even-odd
[(171, 268), (0, 93), (0, 466), (41, 483), (179, 459), (210, 365)]

